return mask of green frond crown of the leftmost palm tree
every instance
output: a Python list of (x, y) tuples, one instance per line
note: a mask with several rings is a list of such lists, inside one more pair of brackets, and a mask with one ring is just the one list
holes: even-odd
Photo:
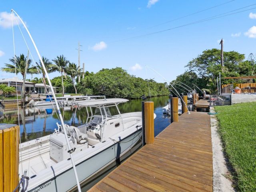
[[(26, 68), (26, 61), (28, 58), (26, 58), (24, 56), (24, 54), (20, 54), (20, 56), (15, 56), (15, 60), (16, 60), (16, 70), (17, 73), (21, 73), (22, 77), (24, 79), (25, 76), (25, 68)], [(8, 73), (15, 73), (15, 62), (14, 62), (14, 57), (9, 59), (10, 62), (12, 62), (12, 64), (7, 64), (5, 63), (6, 67), (2, 67), (1, 70), (4, 72), (8, 72)], [(31, 59), (28, 59), (28, 69), (27, 72), (30, 74), (36, 73), (36, 67), (30, 67), (31, 64)]]

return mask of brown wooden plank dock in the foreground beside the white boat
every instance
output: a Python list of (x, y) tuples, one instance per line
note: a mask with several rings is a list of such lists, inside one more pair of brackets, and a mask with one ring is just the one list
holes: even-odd
[(210, 115), (184, 113), (90, 192), (212, 192)]

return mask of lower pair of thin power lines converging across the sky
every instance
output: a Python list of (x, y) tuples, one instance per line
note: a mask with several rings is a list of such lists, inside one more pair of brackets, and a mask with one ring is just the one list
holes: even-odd
[[(256, 4), (245, 6), (243, 8), (250, 7), (250, 6), (253, 6), (253, 5), (256, 5)], [(152, 33), (148, 33), (148, 34), (144, 34), (144, 35), (134, 36), (134, 37), (130, 37), (130, 38), (122, 39), (122, 40), (117, 40), (117, 41), (114, 41), (114, 42), (110, 42), (109, 44), (120, 42), (120, 41), (136, 39), (136, 38), (142, 38), (142, 37), (145, 37), (145, 36), (150, 36), (150, 35), (153, 35), (153, 34), (165, 32), (165, 31), (169, 31), (169, 30), (173, 30), (173, 29), (176, 29), (176, 28), (181, 28), (181, 27), (184, 27), (184, 26), (192, 25), (192, 24), (197, 24), (197, 23), (201, 23), (201, 22), (205, 22), (205, 21), (214, 20), (214, 19), (217, 19), (217, 18), (222, 18), (222, 17), (225, 17), (225, 16), (233, 15), (233, 14), (238, 14), (238, 13), (241, 13), (241, 12), (245, 12), (245, 11), (248, 11), (248, 10), (255, 9), (256, 7), (250, 8), (250, 9), (246, 9), (246, 10), (242, 10), (242, 11), (239, 11), (239, 12), (234, 12), (236, 10), (240, 10), (240, 9), (243, 9), (243, 8), (238, 8), (238, 9), (235, 9), (235, 10), (232, 10), (232, 11), (229, 11), (229, 12), (225, 12), (225, 13), (218, 14), (218, 15), (215, 15), (215, 16), (212, 16), (212, 17), (208, 17), (208, 18), (205, 18), (205, 19), (197, 20), (197, 21), (194, 21), (194, 22), (191, 22), (191, 23), (188, 23), (188, 24), (176, 26), (176, 27), (173, 27), (173, 28), (169, 28), (169, 29), (165, 29), (165, 30), (160, 30), (160, 31), (157, 31), (157, 32), (152, 32)], [(230, 13), (230, 12), (234, 12), (234, 13)], [(230, 13), (230, 14), (227, 14), (227, 13)], [(226, 15), (223, 15), (223, 14), (226, 14)], [(222, 15), (222, 16), (220, 16), (220, 15)]]

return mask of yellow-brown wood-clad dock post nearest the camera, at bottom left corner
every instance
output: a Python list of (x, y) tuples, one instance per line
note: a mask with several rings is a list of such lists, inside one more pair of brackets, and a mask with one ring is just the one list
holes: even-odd
[(18, 185), (20, 128), (14, 124), (0, 126), (0, 191), (13, 191)]

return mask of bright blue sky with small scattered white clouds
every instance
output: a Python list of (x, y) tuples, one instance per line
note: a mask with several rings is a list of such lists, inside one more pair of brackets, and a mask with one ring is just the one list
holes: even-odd
[[(79, 41), (82, 45), (81, 65), (84, 62), (86, 70), (90, 72), (118, 66), (135, 76), (164, 82), (152, 70), (148, 69), (146, 72), (147, 65), (170, 81), (183, 73), (186, 70), (184, 66), (203, 50), (220, 48), (218, 40), (221, 38), (224, 39), (224, 51), (238, 51), (246, 54), (246, 57), (251, 52), (255, 54), (256, 9), (142, 38), (128, 38), (173, 28), (256, 3), (255, 0), (229, 1), (4, 1), (0, 6), (0, 66), (3, 67), (14, 55), (10, 22), (10, 10), (13, 8), (26, 22), (40, 54), (50, 60), (63, 54), (71, 62), (78, 63), (76, 48)], [(156, 26), (225, 2), (229, 3)], [(254, 7), (256, 5), (245, 9)], [(33, 57), (38, 61), (24, 27), (21, 30)], [(16, 55), (26, 55), (26, 45), (18, 26), (14, 26), (14, 36)], [(57, 72), (52, 73), (50, 78), (58, 75)], [(15, 74), (0, 72), (0, 76), (8, 78)], [(27, 78), (31, 78), (31, 75)]]

